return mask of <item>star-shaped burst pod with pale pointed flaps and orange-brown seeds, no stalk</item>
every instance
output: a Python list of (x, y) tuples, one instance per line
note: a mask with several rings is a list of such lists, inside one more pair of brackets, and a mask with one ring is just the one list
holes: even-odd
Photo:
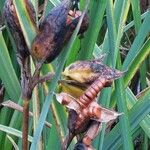
[(68, 119), (69, 129), (75, 133), (83, 132), (87, 128), (90, 120), (107, 123), (111, 120), (115, 120), (119, 115), (122, 115), (122, 113), (101, 107), (96, 101), (90, 101), (86, 107), (83, 107), (80, 105), (78, 99), (66, 93), (56, 94), (56, 99), (59, 103), (71, 110), (69, 111), (70, 115)]

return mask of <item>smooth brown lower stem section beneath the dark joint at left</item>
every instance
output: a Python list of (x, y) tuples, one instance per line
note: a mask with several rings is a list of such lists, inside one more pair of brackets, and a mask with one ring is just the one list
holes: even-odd
[(23, 100), (22, 150), (28, 149), (29, 99)]

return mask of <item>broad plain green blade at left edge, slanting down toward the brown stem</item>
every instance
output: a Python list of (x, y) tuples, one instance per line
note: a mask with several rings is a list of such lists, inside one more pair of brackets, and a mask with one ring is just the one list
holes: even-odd
[(3, 69), (0, 69), (0, 78), (9, 96), (17, 102), (21, 94), (21, 87), (13, 69), (2, 32), (0, 32), (0, 65), (3, 66)]

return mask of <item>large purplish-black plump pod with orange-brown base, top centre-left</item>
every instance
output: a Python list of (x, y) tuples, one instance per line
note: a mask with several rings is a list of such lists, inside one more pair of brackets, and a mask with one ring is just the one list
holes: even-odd
[[(64, 0), (59, 6), (54, 7), (40, 24), (39, 33), (33, 41), (31, 50), (38, 61), (44, 60), (49, 63), (54, 60), (71, 37), (79, 17), (73, 16), (70, 19), (68, 15), (70, 8), (71, 1)], [(81, 25), (81, 28), (85, 28), (84, 26)]]

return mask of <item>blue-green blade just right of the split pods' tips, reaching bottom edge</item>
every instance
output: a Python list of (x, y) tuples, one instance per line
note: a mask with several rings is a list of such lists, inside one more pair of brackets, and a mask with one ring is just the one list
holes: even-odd
[[(119, 67), (121, 67), (121, 60), (118, 60)], [(125, 150), (133, 150), (132, 136), (131, 136), (131, 127), (129, 123), (129, 114), (126, 103), (125, 87), (123, 79), (115, 81), (115, 92), (117, 99), (117, 108), (119, 112), (123, 112), (124, 115), (119, 117), (119, 126), (121, 131), (121, 137), (123, 141), (123, 148)]]

